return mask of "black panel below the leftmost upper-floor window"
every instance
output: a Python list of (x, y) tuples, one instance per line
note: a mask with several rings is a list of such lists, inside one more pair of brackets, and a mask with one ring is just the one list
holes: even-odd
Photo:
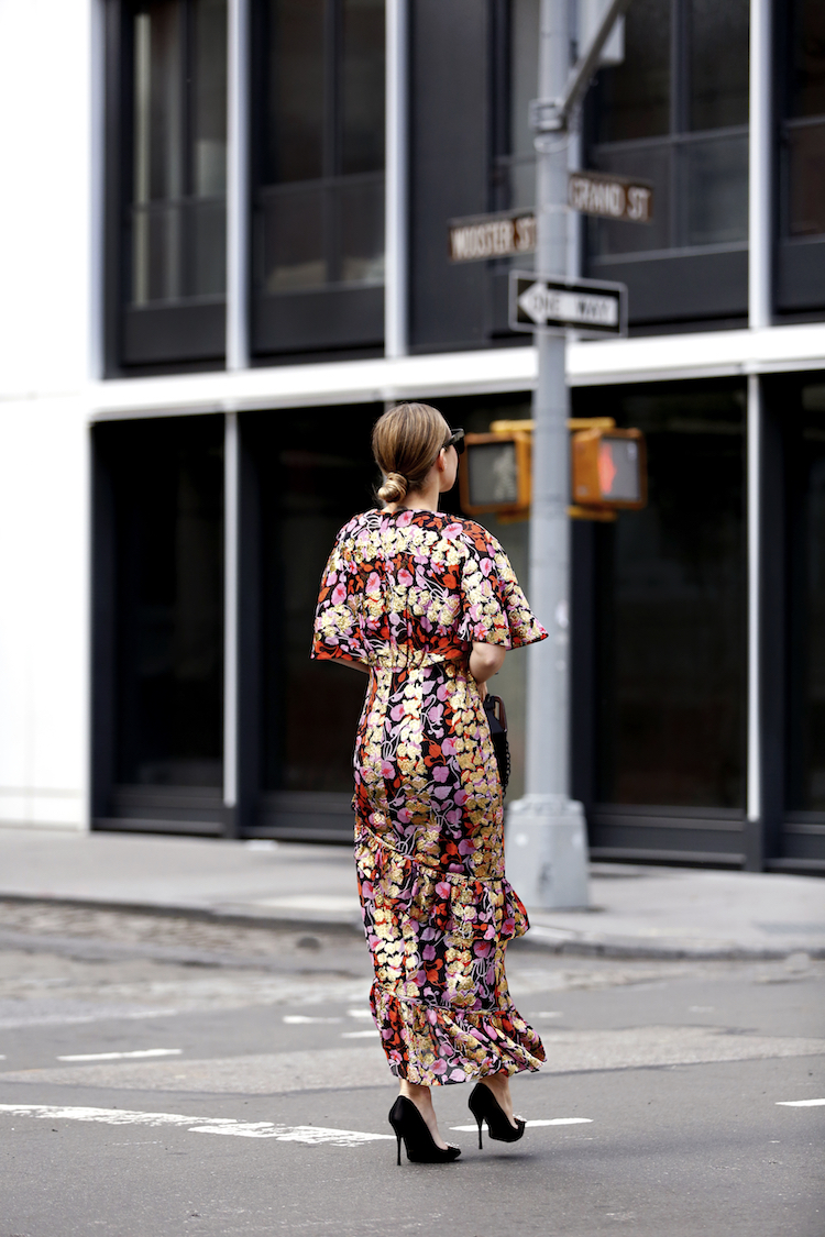
[(224, 355), (223, 303), (124, 310), (124, 365), (207, 361)]

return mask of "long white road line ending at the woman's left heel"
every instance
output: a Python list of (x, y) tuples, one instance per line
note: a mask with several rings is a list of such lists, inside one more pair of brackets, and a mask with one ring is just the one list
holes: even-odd
[(47, 1103), (0, 1103), (0, 1113), (43, 1117), (47, 1121), (92, 1121), (106, 1126), (173, 1126), (190, 1134), (234, 1134), (239, 1138), (275, 1138), (281, 1143), (327, 1143), (331, 1147), (360, 1147), (393, 1134), (367, 1134), (361, 1129), (329, 1129), (324, 1126), (276, 1126), (271, 1121), (235, 1121), (234, 1117), (186, 1117), (177, 1112), (130, 1112), (127, 1108), (59, 1107)]

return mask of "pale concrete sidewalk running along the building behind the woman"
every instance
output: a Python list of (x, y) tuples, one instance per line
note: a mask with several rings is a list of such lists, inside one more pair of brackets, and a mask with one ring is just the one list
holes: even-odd
[[(0, 829), (0, 901), (360, 931), (344, 846)], [(825, 881), (597, 863), (589, 910), (531, 913), (557, 952), (623, 957), (825, 957)]]

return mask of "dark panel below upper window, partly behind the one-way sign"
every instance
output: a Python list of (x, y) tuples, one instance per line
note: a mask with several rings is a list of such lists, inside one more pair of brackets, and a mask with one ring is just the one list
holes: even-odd
[(591, 259), (588, 275), (627, 285), (631, 325), (747, 314), (745, 249), (627, 261)]

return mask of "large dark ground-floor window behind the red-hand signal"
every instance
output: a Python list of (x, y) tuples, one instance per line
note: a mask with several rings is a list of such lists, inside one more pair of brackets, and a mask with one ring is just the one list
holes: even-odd
[(578, 391), (644, 430), (649, 502), (596, 528), (602, 803), (738, 808), (745, 757), (741, 386)]

